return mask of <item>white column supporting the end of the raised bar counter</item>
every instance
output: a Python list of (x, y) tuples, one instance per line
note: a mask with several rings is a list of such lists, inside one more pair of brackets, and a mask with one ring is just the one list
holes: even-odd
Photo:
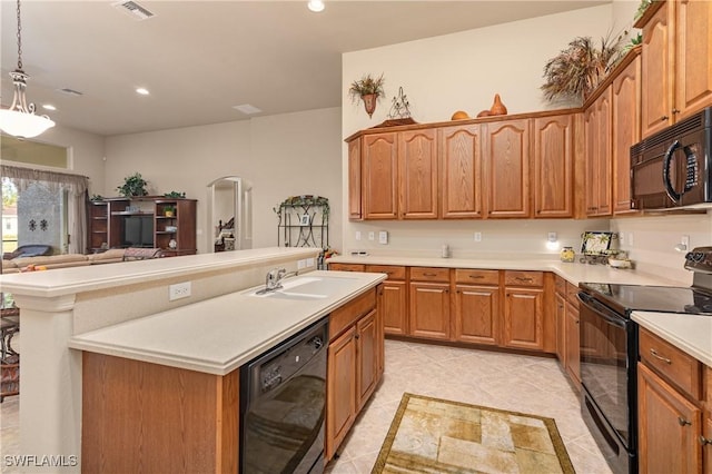
[[(20, 308), (22, 472), (80, 472), (81, 352), (70, 349), (75, 295), (14, 295)], [(22, 462), (22, 461), (20, 461)]]

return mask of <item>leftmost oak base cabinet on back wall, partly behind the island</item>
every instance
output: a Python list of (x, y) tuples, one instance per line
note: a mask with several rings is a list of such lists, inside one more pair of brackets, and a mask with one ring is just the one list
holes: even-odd
[(406, 267), (367, 265), (366, 271), (388, 275), (380, 289), (384, 332), (405, 336), (408, 333)]

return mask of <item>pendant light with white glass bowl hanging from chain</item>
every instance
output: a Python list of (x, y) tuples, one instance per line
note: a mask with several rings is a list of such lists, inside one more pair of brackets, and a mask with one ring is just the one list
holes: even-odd
[(18, 138), (32, 138), (55, 127), (47, 116), (34, 115), (34, 103), (28, 103), (24, 97), (29, 76), (22, 70), (22, 23), (20, 21), (20, 0), (18, 0), (18, 68), (10, 72), (14, 96), (8, 109), (0, 109), (0, 130)]

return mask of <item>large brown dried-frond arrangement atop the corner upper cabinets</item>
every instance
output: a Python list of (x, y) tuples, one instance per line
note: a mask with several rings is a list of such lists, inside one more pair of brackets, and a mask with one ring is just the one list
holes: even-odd
[(582, 102), (605, 78), (621, 57), (623, 36), (601, 38), (596, 48), (591, 37), (577, 37), (544, 66), (546, 82), (541, 87), (548, 100), (577, 99)]

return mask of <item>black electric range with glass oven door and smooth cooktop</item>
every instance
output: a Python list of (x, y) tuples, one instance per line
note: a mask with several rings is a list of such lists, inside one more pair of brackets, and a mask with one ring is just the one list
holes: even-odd
[(615, 474), (637, 473), (634, 310), (712, 316), (712, 247), (685, 255), (689, 287), (578, 284), (582, 415)]

